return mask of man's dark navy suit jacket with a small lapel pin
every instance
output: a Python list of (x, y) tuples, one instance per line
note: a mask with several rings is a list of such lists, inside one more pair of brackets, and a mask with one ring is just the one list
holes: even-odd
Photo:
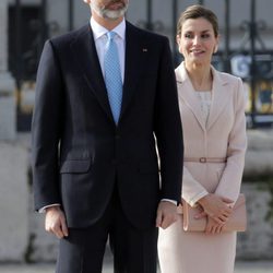
[(70, 227), (92, 225), (117, 182), (131, 223), (154, 226), (159, 199), (180, 199), (182, 174), (182, 131), (167, 38), (127, 22), (117, 126), (90, 24), (48, 40), (37, 72), (32, 132), (36, 210), (60, 203)]

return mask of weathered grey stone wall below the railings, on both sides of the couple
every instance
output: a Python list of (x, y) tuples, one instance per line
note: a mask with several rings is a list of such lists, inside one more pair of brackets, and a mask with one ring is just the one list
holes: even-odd
[[(247, 173), (264, 175), (272, 170), (272, 131), (248, 131)], [(48, 262), (55, 261), (57, 254), (58, 240), (44, 230), (44, 215), (33, 211), (27, 175), (29, 139), (29, 133), (21, 133), (14, 141), (0, 142), (0, 261)], [(272, 197), (259, 189), (262, 185), (262, 180), (242, 183), (249, 228), (238, 234), (238, 259), (273, 258), (273, 228), (264, 219)]]

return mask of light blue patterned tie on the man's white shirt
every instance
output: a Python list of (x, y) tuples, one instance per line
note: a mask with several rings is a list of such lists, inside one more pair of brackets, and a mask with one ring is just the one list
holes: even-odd
[(116, 124), (119, 120), (121, 100), (122, 100), (122, 80), (119, 64), (118, 48), (114, 40), (115, 32), (107, 33), (107, 44), (105, 50), (104, 68), (105, 84), (108, 93), (108, 99)]

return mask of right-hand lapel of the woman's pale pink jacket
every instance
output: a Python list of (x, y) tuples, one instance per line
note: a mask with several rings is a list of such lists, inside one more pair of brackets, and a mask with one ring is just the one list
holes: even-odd
[(232, 92), (228, 91), (228, 83), (221, 78), (221, 73), (212, 68), (213, 72), (213, 88), (212, 88), (212, 104), (207, 119), (206, 130), (213, 126), (213, 123), (221, 116), (227, 102), (232, 96)]

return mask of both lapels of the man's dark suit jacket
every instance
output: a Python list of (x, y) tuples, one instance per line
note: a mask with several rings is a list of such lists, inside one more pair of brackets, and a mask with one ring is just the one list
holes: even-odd
[[(87, 85), (97, 97), (107, 116), (115, 123), (90, 24), (86, 24), (79, 31), (74, 32), (73, 35), (74, 38), (71, 43), (71, 52), (79, 67), (79, 71), (81, 71)], [(143, 56), (143, 45), (141, 45), (140, 40), (139, 29), (129, 22), (126, 22), (126, 72), (120, 119), (122, 118), (135, 87), (138, 86), (139, 74), (143, 68), (143, 58), (141, 58)]]

